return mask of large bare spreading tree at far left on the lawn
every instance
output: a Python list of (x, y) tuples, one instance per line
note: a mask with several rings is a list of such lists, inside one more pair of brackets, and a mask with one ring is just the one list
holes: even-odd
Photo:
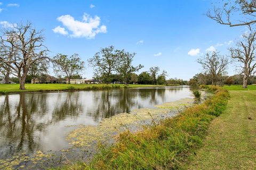
[(11, 74), (19, 78), (20, 89), (25, 90), (30, 65), (48, 58), (42, 30), (37, 31), (29, 22), (13, 24), (11, 28), (2, 30), (0, 40), (3, 49), (0, 61), (11, 68)]

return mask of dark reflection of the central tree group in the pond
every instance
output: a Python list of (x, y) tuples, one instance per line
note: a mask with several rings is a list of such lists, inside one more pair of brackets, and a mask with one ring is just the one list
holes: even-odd
[[(182, 89), (148, 88), (148, 89), (121, 89), (97, 91), (94, 96), (93, 109), (87, 109), (86, 114), (94, 117), (94, 121), (111, 117), (118, 113), (130, 113), (131, 108), (141, 108), (143, 104), (154, 106), (165, 102), (166, 91), (177, 92)], [(148, 101), (147, 101), (148, 100)]]

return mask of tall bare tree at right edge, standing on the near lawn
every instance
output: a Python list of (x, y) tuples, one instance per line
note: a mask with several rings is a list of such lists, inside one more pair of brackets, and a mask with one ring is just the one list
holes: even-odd
[(242, 41), (237, 43), (235, 48), (229, 49), (231, 57), (242, 64), (243, 88), (247, 88), (248, 78), (256, 67), (255, 38), (256, 31), (251, 30), (250, 33), (243, 34)]

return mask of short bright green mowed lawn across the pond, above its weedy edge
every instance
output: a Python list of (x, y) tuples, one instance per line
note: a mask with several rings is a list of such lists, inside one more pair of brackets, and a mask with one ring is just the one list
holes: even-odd
[[(2, 92), (26, 92), (26, 91), (41, 91), (41, 90), (68, 90), (70, 86), (76, 89), (84, 89), (89, 86), (106, 86), (107, 84), (26, 84), (26, 90), (19, 90), (19, 84), (0, 84), (0, 91)], [(111, 84), (109, 84), (111, 86)], [(124, 84), (115, 84), (124, 87)], [(138, 87), (159, 87), (156, 85), (145, 84), (129, 84), (129, 88)]]

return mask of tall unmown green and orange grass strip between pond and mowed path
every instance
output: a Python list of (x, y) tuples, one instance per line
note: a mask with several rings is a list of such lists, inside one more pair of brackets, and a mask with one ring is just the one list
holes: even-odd
[(214, 96), (145, 130), (119, 134), (117, 143), (102, 148), (90, 164), (76, 163), (61, 169), (173, 169), (202, 146), (214, 117), (226, 108), (228, 92), (212, 88)]

